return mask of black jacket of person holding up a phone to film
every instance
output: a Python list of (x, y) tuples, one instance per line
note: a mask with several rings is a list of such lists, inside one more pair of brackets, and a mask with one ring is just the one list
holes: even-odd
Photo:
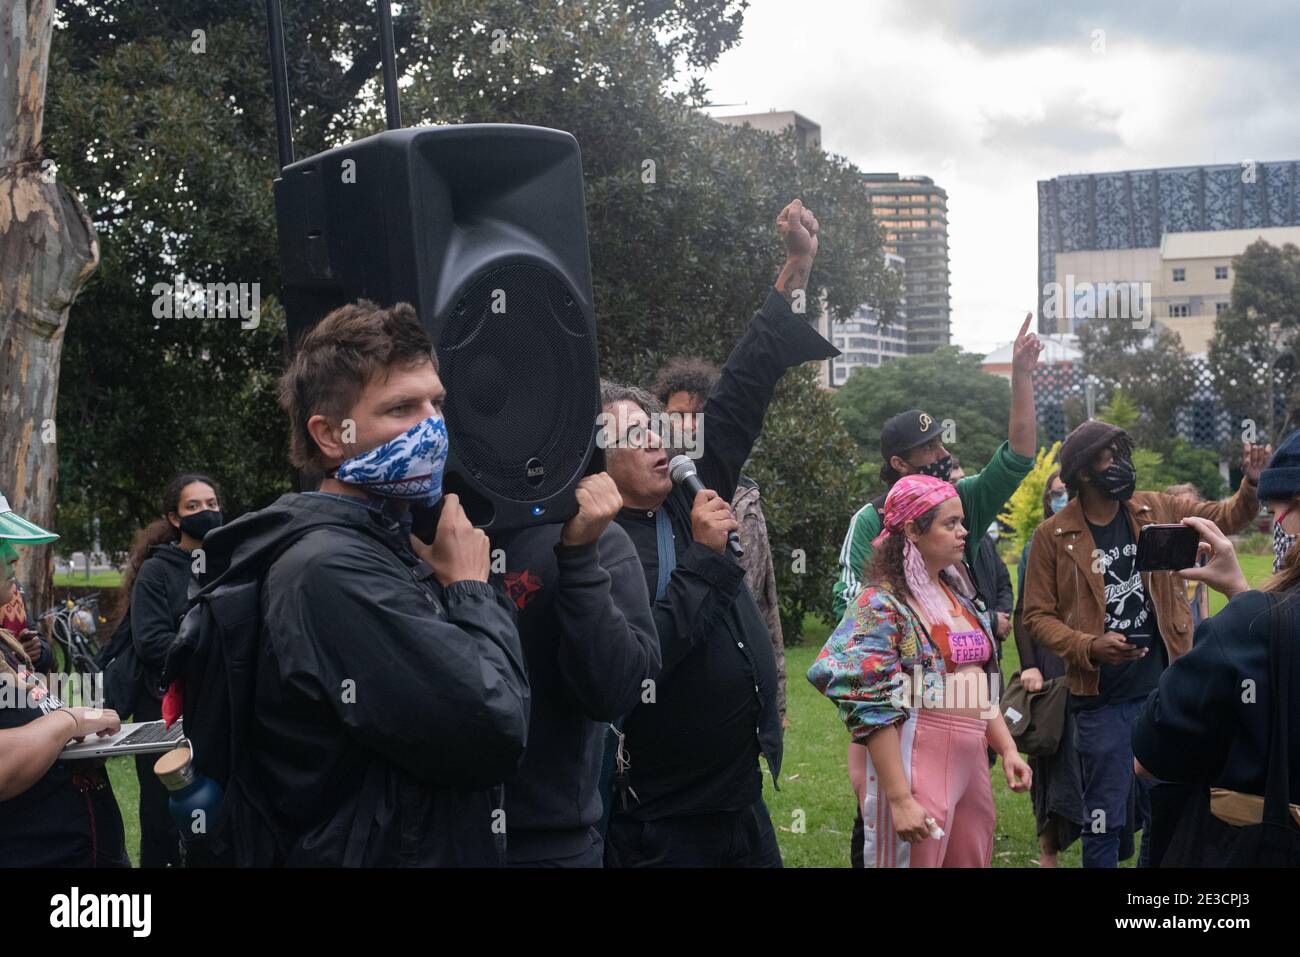
[[(1197, 625), (1192, 650), (1165, 670), (1134, 724), (1134, 757), (1143, 767), (1166, 781), (1264, 793), (1277, 693), (1269, 677), (1271, 619), (1264, 592), (1243, 592)], [(1287, 637), (1300, 641), (1300, 607), (1292, 624)], [(1300, 654), (1291, 658), (1290, 797), (1300, 802)]]

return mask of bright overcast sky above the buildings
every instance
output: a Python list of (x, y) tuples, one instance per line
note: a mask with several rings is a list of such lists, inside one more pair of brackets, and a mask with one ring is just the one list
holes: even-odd
[[(1035, 183), (1300, 159), (1300, 4), (753, 0), (711, 112), (796, 109), (866, 172), (948, 190), (952, 332), (1035, 308)], [(1097, 31), (1102, 31), (1098, 34)]]

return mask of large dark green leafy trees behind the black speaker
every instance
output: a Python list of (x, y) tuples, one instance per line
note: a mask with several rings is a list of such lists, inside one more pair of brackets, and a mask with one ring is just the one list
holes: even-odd
[[(536, 124), (581, 144), (604, 376), (646, 381), (679, 354), (725, 359), (776, 276), (774, 224), (794, 196), (823, 230), (809, 302), (824, 295), (837, 317), (863, 302), (892, 308), (854, 168), (789, 135), (710, 121), (690, 108), (698, 82), (670, 92), (737, 42), (744, 8), (429, 0), (394, 17), (407, 125)], [(65, 345), (58, 527), (66, 546), (84, 546), (98, 516), (104, 546), (121, 551), (159, 514), (173, 472), (211, 472), (231, 515), (290, 488), (273, 389), (285, 342), (265, 16), (254, 0), (118, 0), (60, 18), (47, 150), (84, 196), (104, 261)], [(285, 20), (298, 155), (382, 129), (373, 3), (286, 4)], [(204, 53), (191, 52), (195, 25)], [(178, 273), (260, 282), (261, 325), (153, 319), (151, 287)], [(783, 391), (772, 419), (811, 421), (826, 406), (811, 395)], [(818, 494), (792, 489), (785, 507)], [(779, 511), (767, 512), (777, 524)], [(818, 534), (838, 542), (842, 524)]]

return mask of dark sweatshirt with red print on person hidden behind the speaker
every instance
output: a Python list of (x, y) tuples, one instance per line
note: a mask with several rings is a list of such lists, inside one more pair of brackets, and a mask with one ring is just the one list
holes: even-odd
[(590, 848), (607, 723), (630, 711), (659, 674), (659, 638), (627, 532), (611, 523), (586, 546), (559, 537), (559, 525), (493, 537), (519, 607), (532, 690), (528, 749), (506, 784), (511, 863)]

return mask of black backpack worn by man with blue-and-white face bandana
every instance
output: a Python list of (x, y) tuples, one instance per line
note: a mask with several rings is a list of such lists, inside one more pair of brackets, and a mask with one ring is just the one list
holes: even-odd
[(266, 867), (283, 859), (283, 836), (248, 772), (247, 742), (261, 646), (261, 581), (299, 537), (282, 542), (265, 560), (200, 589), (168, 651), (162, 684), (182, 683), (194, 768), (222, 793), (207, 832), (183, 835), (186, 866)]

